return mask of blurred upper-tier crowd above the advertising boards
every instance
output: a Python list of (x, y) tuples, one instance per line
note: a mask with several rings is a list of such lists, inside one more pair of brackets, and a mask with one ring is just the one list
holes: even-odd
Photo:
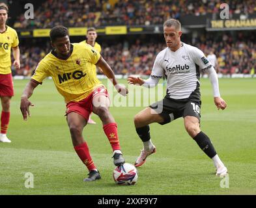
[[(106, 25), (162, 25), (163, 19), (220, 12), (221, 0), (47, 0), (35, 19), (16, 18), (15, 28), (99, 27)], [(256, 12), (255, 0), (226, 0), (230, 14)]]

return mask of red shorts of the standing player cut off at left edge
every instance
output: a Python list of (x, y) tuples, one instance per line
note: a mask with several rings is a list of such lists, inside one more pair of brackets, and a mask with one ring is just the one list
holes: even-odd
[(0, 74), (0, 96), (14, 96), (12, 73)]

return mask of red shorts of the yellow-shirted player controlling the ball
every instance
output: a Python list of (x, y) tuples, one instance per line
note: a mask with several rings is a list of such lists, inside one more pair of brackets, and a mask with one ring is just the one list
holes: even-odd
[(66, 104), (66, 115), (70, 112), (77, 112), (79, 115), (83, 116), (86, 121), (88, 121), (89, 116), (92, 112), (92, 99), (96, 96), (104, 95), (109, 98), (109, 94), (107, 93), (107, 89), (104, 86), (100, 86), (96, 88), (87, 96), (86, 98), (74, 102), (71, 101)]

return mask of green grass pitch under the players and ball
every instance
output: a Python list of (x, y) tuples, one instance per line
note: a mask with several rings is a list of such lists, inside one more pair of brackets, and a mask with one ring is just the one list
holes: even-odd
[[(256, 79), (219, 82), (228, 105), (223, 111), (214, 106), (210, 81), (201, 80), (201, 129), (229, 170), (229, 183), (222, 183), (224, 188), (222, 179), (214, 175), (212, 161), (188, 136), (181, 118), (164, 126), (150, 125), (156, 154), (137, 168), (139, 179), (134, 186), (119, 186), (112, 177), (111, 147), (100, 119), (93, 115), (97, 124), (87, 125), (83, 135), (102, 179), (84, 183), (87, 169), (72, 147), (64, 101), (52, 81), (36, 88), (30, 99), (35, 107), (31, 107), (31, 118), (24, 122), (20, 95), (27, 81), (16, 80), (8, 129), (12, 143), (0, 144), (0, 195), (256, 194)], [(143, 108), (111, 107), (126, 162), (134, 163), (142, 148), (133, 118)], [(34, 175), (33, 188), (25, 188), (27, 172)]]

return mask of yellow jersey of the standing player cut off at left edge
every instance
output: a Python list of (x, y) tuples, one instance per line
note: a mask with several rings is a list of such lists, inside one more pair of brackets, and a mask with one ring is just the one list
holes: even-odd
[(0, 73), (11, 73), (10, 66), (12, 65), (10, 59), (10, 52), (12, 47), (19, 45), (17, 32), (11, 27), (7, 26), (5, 32), (0, 32)]

